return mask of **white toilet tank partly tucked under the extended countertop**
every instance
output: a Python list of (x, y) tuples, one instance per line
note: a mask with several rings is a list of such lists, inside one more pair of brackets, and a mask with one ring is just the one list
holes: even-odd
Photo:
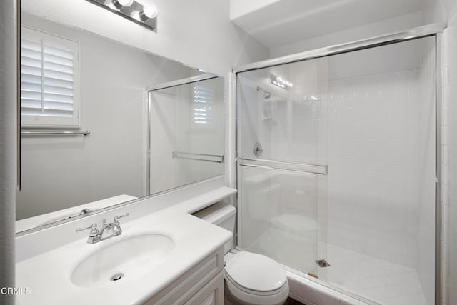
[[(236, 209), (231, 204), (219, 201), (205, 209), (196, 211), (192, 215), (229, 230), (233, 235), (235, 234)], [(224, 254), (229, 252), (232, 246), (233, 236), (230, 241), (227, 241), (226, 244), (224, 244)]]

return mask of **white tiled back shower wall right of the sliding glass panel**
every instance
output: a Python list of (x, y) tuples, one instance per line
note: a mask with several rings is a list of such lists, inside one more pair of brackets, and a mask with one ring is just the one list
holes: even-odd
[(331, 81), (328, 109), (329, 243), (412, 268), (420, 205), (419, 74)]

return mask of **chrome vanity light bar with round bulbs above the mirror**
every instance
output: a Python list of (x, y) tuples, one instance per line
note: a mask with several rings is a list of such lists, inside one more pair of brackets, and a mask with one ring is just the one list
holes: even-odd
[(86, 0), (123, 16), (152, 31), (157, 31), (158, 11), (155, 5), (141, 4), (135, 0)]

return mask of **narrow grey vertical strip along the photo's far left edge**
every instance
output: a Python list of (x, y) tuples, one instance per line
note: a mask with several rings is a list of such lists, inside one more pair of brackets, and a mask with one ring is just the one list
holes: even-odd
[[(16, 1), (0, 2), (0, 287), (14, 287)], [(1, 295), (1, 304), (14, 296)]]

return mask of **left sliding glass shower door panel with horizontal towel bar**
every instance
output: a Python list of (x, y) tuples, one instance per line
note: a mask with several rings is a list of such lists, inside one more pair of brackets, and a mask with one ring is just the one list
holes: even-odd
[(322, 279), (327, 109), (321, 70), (313, 60), (238, 74), (237, 144), (238, 246)]

